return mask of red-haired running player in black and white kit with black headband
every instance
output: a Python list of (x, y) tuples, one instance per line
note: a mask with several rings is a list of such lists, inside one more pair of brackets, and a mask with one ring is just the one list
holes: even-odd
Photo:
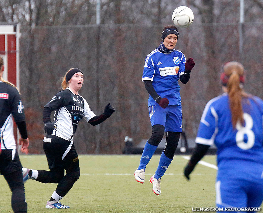
[[(69, 208), (59, 201), (73, 187), (80, 176), (78, 155), (73, 143), (73, 135), (79, 121), (84, 117), (91, 125), (97, 125), (114, 113), (109, 103), (104, 113), (96, 116), (87, 101), (78, 94), (83, 84), (83, 73), (78, 68), (70, 69), (64, 76), (62, 88), (44, 106), (43, 120), (45, 132), (43, 148), (50, 171), (23, 168), (24, 180), (33, 179), (42, 183), (58, 183), (56, 190), (47, 201), (46, 208)], [(50, 114), (55, 110), (54, 121)], [(64, 175), (64, 169), (66, 175)]]

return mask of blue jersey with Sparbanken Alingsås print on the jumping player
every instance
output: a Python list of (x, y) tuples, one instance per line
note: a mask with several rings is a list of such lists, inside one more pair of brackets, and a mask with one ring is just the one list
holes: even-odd
[[(147, 55), (145, 59), (142, 81), (152, 81), (153, 88), (159, 96), (167, 98), (169, 105), (181, 105), (179, 76), (184, 74), (186, 58), (179, 50), (164, 54), (157, 49)], [(158, 105), (152, 96), (148, 106)]]

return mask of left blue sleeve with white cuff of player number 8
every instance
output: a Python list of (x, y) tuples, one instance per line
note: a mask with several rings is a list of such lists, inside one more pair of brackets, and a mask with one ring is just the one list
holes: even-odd
[(218, 116), (216, 110), (208, 102), (200, 120), (196, 143), (213, 145), (218, 131), (217, 122)]

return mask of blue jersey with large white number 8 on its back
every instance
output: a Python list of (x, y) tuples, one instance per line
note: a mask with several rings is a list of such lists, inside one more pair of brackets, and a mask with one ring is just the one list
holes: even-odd
[(237, 122), (236, 127), (227, 93), (210, 100), (203, 111), (196, 143), (217, 146), (218, 170), (263, 166), (263, 101), (256, 96), (244, 98), (242, 107), (245, 125)]

